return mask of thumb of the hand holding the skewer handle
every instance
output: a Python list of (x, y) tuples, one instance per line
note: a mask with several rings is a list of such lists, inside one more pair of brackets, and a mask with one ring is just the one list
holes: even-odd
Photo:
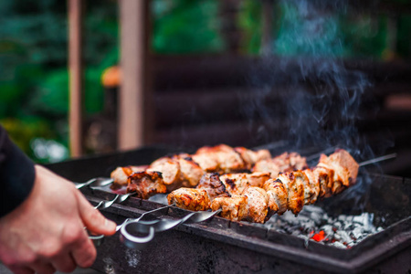
[(102, 216), (81, 193), (78, 195), (78, 201), (80, 218), (90, 232), (107, 236), (116, 232), (116, 223)]

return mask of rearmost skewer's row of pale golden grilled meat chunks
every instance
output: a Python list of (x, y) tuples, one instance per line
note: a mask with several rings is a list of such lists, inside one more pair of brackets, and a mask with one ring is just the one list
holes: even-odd
[[(118, 188), (130, 184), (129, 181), (132, 184), (139, 184), (138, 178), (147, 179), (147, 176), (134, 176), (132, 180), (127, 181), (126, 178), (130, 177), (133, 172), (158, 172), (162, 174), (166, 192), (171, 192), (180, 187), (195, 187), (205, 172), (223, 174), (224, 172), (248, 171), (255, 163), (269, 157), (271, 155), (268, 150), (254, 152), (244, 147), (232, 148), (220, 144), (214, 147), (202, 147), (195, 154), (181, 153), (165, 156), (144, 168), (142, 166), (119, 167), (111, 173), (111, 178), (114, 180), (113, 187)], [(135, 189), (134, 185), (129, 189)], [(137, 189), (147, 188), (137, 187)], [(153, 194), (153, 192), (150, 193), (150, 195)], [(147, 196), (147, 194), (141, 194), (141, 196)]]

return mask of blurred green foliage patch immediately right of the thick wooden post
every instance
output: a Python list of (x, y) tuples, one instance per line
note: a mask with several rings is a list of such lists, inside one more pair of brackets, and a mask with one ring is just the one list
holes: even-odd
[(218, 8), (216, 0), (153, 0), (153, 50), (161, 54), (223, 51)]

